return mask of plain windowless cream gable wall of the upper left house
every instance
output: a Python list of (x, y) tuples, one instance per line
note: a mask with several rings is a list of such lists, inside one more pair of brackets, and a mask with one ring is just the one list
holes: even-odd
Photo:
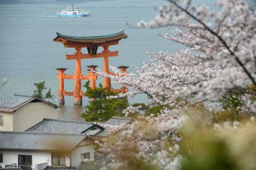
[(24, 132), (44, 118), (57, 119), (57, 110), (53, 105), (43, 102), (27, 103), (13, 112), (13, 131)]

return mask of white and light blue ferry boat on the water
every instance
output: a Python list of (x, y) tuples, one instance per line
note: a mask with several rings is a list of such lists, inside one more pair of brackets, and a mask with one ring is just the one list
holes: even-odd
[(90, 15), (89, 11), (79, 10), (77, 6), (67, 7), (61, 12), (57, 11), (57, 15), (60, 17), (86, 17)]

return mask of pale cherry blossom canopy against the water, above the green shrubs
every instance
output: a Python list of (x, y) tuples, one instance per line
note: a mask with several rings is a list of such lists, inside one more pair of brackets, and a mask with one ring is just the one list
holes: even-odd
[(127, 95), (146, 93), (161, 102), (162, 95), (171, 102), (192, 93), (211, 99), (236, 86), (256, 85), (256, 14), (245, 1), (217, 1), (220, 11), (188, 0), (169, 2), (154, 20), (138, 26), (176, 26), (160, 36), (188, 48), (173, 54), (149, 52), (152, 62), (136, 68), (137, 74), (111, 77), (131, 87)]

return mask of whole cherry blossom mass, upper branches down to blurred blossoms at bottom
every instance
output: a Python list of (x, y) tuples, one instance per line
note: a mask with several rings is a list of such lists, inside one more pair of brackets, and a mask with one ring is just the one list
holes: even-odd
[[(127, 85), (129, 91), (124, 96), (145, 93), (150, 99), (148, 105), (164, 106), (158, 116), (138, 116), (140, 121), (113, 132), (111, 142), (98, 142), (102, 157), (109, 156), (102, 160), (104, 168), (150, 163), (152, 169), (180, 169), (183, 126), (189, 119), (198, 122), (185, 114), (194, 114), (187, 103), (217, 100), (238, 87), (256, 85), (256, 13), (242, 0), (216, 1), (216, 7), (218, 10), (211, 11), (205, 5), (193, 5), (191, 0), (168, 0), (152, 21), (141, 21), (138, 26), (168, 26), (169, 32), (159, 35), (187, 49), (172, 54), (148, 52), (150, 61), (135, 67), (136, 73), (120, 73), (112, 68), (119, 75), (113, 76), (97, 71), (115, 83)], [(245, 110), (255, 113), (255, 93), (243, 91), (242, 98)], [(125, 114), (134, 112), (139, 112), (139, 106), (127, 108)], [(236, 126), (239, 122), (226, 124)], [(205, 127), (205, 123), (199, 125)]]

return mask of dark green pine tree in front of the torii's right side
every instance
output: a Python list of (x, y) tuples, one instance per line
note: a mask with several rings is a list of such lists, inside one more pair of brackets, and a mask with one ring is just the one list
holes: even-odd
[(92, 89), (86, 82), (86, 95), (90, 99), (86, 105), (86, 112), (82, 113), (82, 118), (88, 122), (106, 122), (113, 116), (123, 116), (122, 111), (127, 108), (128, 101), (126, 97), (112, 98), (118, 94), (113, 91), (107, 91), (101, 84), (99, 87)]

